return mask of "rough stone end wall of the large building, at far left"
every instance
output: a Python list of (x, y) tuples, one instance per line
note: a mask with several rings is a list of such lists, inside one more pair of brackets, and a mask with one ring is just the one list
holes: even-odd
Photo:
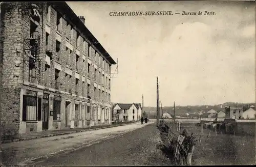
[(22, 6), (1, 4), (1, 137), (19, 130), (19, 84), (22, 80)]

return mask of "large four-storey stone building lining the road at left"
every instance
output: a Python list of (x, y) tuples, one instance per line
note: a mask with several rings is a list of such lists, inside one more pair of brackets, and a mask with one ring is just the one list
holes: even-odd
[(109, 53), (65, 2), (1, 4), (1, 132), (111, 124)]

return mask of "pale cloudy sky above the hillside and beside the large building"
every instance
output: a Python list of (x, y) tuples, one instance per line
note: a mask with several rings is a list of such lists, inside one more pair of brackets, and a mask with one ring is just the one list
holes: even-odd
[[(111, 101), (255, 102), (255, 2), (67, 2), (117, 62)], [(110, 16), (118, 11), (215, 15)], [(112, 72), (116, 65), (112, 66)]]

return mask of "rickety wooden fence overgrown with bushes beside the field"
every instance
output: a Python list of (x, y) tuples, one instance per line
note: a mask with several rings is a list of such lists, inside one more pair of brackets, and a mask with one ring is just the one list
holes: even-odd
[(184, 140), (186, 136), (173, 132), (169, 126), (160, 121), (160, 126), (167, 133), (165, 146), (174, 155), (175, 161), (179, 165), (191, 165), (192, 155), (195, 146), (187, 145)]

